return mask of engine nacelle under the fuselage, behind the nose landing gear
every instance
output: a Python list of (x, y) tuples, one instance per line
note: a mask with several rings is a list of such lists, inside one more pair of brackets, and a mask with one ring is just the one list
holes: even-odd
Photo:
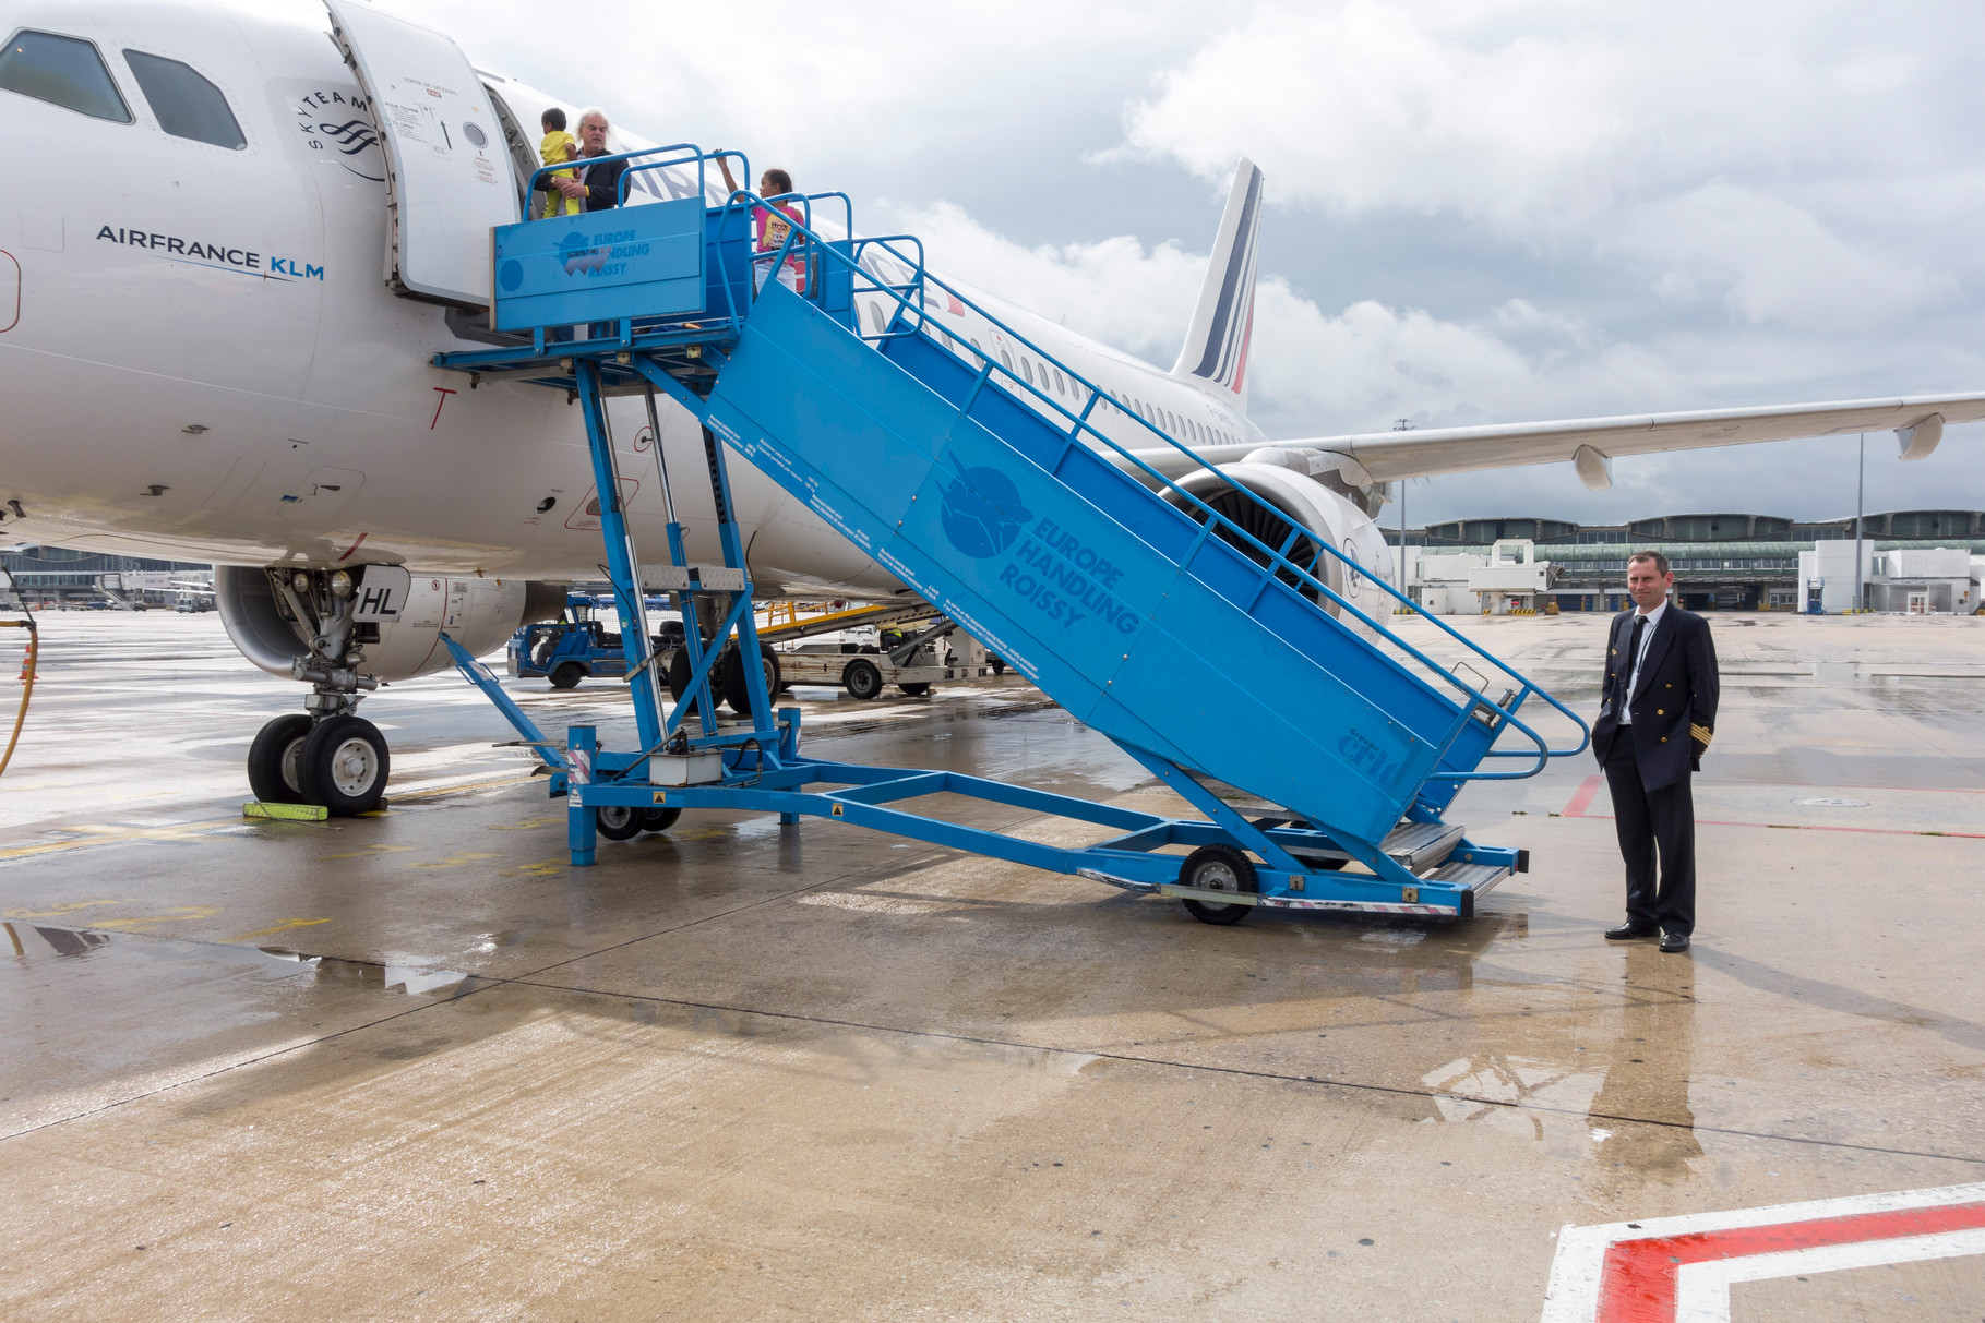
[[(441, 631), (474, 657), (490, 653), (526, 621), (556, 619), (566, 605), (560, 583), (421, 575), (397, 565), (353, 565), (347, 585), (331, 593), (328, 569), (262, 569), (214, 565), (220, 623), (242, 657), (270, 674), (298, 676), (312, 655), (308, 617), (326, 603), (349, 601), (355, 621), (349, 645), (363, 661), (355, 670), (379, 680), (411, 680), (451, 664)], [(278, 581), (300, 577), (288, 593)], [(306, 621), (298, 621), (298, 605)]]

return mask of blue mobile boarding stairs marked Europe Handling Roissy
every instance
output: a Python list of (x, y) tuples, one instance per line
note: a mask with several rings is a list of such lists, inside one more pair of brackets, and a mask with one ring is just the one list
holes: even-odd
[[(544, 760), (552, 793), (568, 795), (574, 865), (594, 863), (601, 833), (661, 829), (683, 809), (746, 809), (1159, 893), (1207, 922), (1255, 906), (1467, 918), (1485, 891), (1526, 871), (1524, 851), (1475, 843), (1445, 813), (1467, 782), (1534, 776), (1582, 752), (1584, 722), (1564, 704), (1423, 617), (1507, 678), (1491, 698), (1473, 666), (1443, 668), (1332, 591), (1324, 557), (1364, 571), (1328, 538), (1310, 540), (1268, 510), (1268, 528), (1288, 530), (1268, 545), (1106, 436), (1096, 422), (1108, 395), (931, 276), (913, 236), (854, 238), (844, 194), (774, 198), (800, 222), (776, 252), (758, 252), (752, 208), (764, 198), (705, 202), (715, 155), (681, 145), (625, 161), (623, 190), (641, 171), (685, 182), (693, 171), (697, 192), (498, 226), (490, 325), (510, 343), (435, 355), (474, 379), (568, 391), (586, 417), (639, 748), (603, 750), (590, 726), (546, 740), (449, 639), (463, 674)], [(842, 212), (842, 238), (816, 226), (816, 206)], [(802, 274), (798, 292), (776, 280), (782, 270)], [(951, 339), (925, 315), (931, 298), (973, 307), (1058, 367), (1080, 409)], [(887, 315), (863, 327), (863, 305)], [(673, 478), (653, 446), (667, 563), (643, 569), (605, 409), (623, 395), (645, 399), (651, 422), (659, 395), (701, 419), (721, 565), (687, 557)], [(1151, 446), (1183, 450), (1135, 413), (1118, 417), (1145, 428)], [(727, 450), (1203, 817), (802, 754), (800, 710), (774, 710), (760, 666), (734, 661), (758, 657), (758, 641)], [(673, 708), (643, 607), (655, 587), (683, 613)], [(717, 718), (725, 688), (742, 692), (746, 720)], [(1572, 722), (1576, 746), (1552, 748), (1519, 714), (1532, 696)], [(1489, 760), (1521, 766), (1487, 770)], [(907, 807), (937, 793), (1076, 819), (1100, 839), (1044, 845)]]

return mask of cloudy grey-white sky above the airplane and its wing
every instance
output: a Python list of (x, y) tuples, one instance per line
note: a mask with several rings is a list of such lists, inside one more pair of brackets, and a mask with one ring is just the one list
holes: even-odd
[[(1985, 391), (1975, 0), (385, 2), (1161, 365), (1251, 155), (1276, 438)], [(1598, 494), (1451, 476), (1407, 514), (1830, 518), (1854, 452), (1628, 458)], [(1870, 436), (1868, 510), (1985, 508), (1985, 426), (1894, 452)]]

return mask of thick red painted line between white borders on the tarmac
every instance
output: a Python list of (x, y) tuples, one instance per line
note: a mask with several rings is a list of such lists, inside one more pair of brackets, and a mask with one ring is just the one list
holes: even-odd
[(1945, 1204), (1941, 1208), (1896, 1208), (1846, 1218), (1739, 1226), (1727, 1232), (1691, 1232), (1620, 1240), (1608, 1246), (1600, 1269), (1600, 1311), (1596, 1323), (1675, 1323), (1675, 1283), (1683, 1263), (1741, 1260), (1785, 1250), (1856, 1246), (1870, 1240), (1937, 1236), (1985, 1228), (1985, 1204)]

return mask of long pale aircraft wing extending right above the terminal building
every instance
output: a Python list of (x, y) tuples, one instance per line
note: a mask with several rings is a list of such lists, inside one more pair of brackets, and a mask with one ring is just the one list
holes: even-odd
[[(1312, 436), (1276, 440), (1268, 446), (1195, 446), (1193, 454), (1201, 464), (1231, 464), (1260, 448), (1314, 450), (1322, 452), (1320, 458), (1336, 456), (1344, 476), (1360, 486), (1477, 468), (1570, 460), (1578, 466), (1578, 476), (1588, 488), (1604, 490), (1612, 486), (1610, 460), (1620, 454), (1659, 454), (1705, 446), (1743, 446), (1759, 440), (1894, 430), (1902, 458), (1919, 460), (1937, 448), (1947, 422), (1975, 422), (1979, 419), (1985, 419), (1985, 395), (1918, 395), (1826, 405), (1705, 409), (1622, 419)], [(1137, 458), (1167, 476), (1193, 468), (1177, 450), (1137, 450)]]

